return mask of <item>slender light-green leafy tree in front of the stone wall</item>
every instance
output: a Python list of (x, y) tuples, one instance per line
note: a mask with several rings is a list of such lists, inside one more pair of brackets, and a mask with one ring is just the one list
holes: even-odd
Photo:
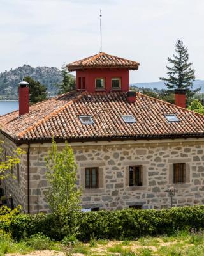
[(59, 152), (53, 140), (47, 162), (47, 202), (58, 225), (61, 237), (76, 236), (79, 227), (81, 191), (77, 188), (77, 164), (68, 143)]

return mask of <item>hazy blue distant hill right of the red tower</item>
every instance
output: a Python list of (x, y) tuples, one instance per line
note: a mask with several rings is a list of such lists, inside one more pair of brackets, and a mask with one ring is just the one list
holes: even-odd
[[(133, 83), (131, 84), (131, 86), (133, 87), (137, 87), (137, 88), (150, 88), (150, 89), (154, 89), (157, 88), (158, 90), (161, 89), (166, 89), (166, 86), (164, 86), (164, 82), (150, 82), (150, 83)], [(198, 88), (201, 86), (201, 91), (200, 92), (204, 92), (204, 80), (196, 80), (194, 81), (193, 87), (194, 89)]]

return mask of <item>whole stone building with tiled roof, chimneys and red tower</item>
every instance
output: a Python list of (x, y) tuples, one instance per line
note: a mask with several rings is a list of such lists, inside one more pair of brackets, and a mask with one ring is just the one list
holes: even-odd
[(204, 203), (204, 116), (185, 109), (185, 92), (175, 105), (129, 91), (129, 70), (139, 63), (103, 52), (69, 64), (75, 91), (29, 106), (26, 83), (19, 86), (19, 113), (0, 116), (5, 155), (21, 147), (4, 180), (8, 202), (25, 212), (48, 212), (45, 156), (52, 137), (67, 140), (78, 164), (84, 209), (159, 209)]

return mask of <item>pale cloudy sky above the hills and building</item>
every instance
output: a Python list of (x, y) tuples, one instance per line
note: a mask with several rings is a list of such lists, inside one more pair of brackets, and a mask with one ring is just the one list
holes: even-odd
[(29, 64), (61, 68), (103, 51), (140, 62), (131, 83), (158, 81), (178, 38), (204, 79), (203, 0), (0, 0), (0, 72)]

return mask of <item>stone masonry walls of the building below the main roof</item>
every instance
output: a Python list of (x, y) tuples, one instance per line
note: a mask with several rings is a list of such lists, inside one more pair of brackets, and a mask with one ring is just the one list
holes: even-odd
[[(6, 139), (7, 140), (7, 139)], [(10, 151), (15, 148), (8, 140)], [(30, 150), (30, 211), (48, 212), (45, 156), (51, 145), (31, 145)], [(4, 147), (4, 146), (3, 146)], [(62, 148), (59, 144), (59, 150)], [(170, 207), (166, 189), (177, 192), (173, 206), (204, 204), (204, 143), (203, 140), (115, 141), (114, 143), (73, 143), (78, 164), (77, 184), (82, 188), (82, 207), (123, 209), (142, 205), (143, 209)], [(27, 151), (27, 145), (22, 145)], [(9, 154), (8, 152), (8, 154)], [(183, 184), (172, 184), (173, 164), (186, 164)], [(129, 166), (142, 166), (142, 186), (129, 186)], [(99, 188), (85, 188), (85, 168), (98, 167)], [(6, 191), (13, 195), (15, 205), (27, 212), (27, 155), (22, 156), (20, 182), (6, 180)]]

